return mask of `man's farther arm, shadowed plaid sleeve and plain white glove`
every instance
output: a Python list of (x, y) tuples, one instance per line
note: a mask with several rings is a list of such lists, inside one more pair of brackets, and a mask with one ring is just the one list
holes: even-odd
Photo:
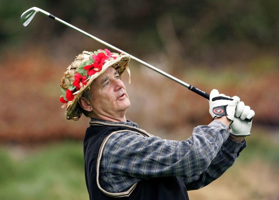
[(252, 122), (248, 122), (245, 119), (251, 119), (254, 115), (255, 112), (249, 106), (239, 102), (236, 108), (236, 116), (240, 118), (234, 117), (232, 124), (225, 117), (214, 119), (219, 123), (221, 122), (221, 126), (230, 125), (231, 134), (204, 173), (196, 177), (183, 178), (188, 190), (195, 190), (208, 185), (220, 177), (235, 162), (239, 153), (246, 147), (245, 136), (250, 135)]

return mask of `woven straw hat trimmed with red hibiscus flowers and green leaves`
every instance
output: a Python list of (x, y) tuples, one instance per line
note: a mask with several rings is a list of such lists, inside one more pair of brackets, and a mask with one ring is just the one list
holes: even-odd
[(76, 107), (78, 99), (85, 90), (89, 89), (90, 84), (110, 66), (118, 71), (119, 78), (126, 69), (130, 83), (129, 61), (128, 55), (111, 53), (108, 49), (99, 49), (94, 52), (83, 51), (78, 55), (67, 68), (60, 85), (63, 93), (60, 96), (60, 102), (64, 103), (62, 108), (66, 107), (66, 118), (78, 120), (81, 117), (82, 113)]

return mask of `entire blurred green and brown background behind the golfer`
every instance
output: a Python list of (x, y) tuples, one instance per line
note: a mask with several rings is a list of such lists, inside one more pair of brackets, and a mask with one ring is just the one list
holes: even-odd
[[(0, 1), (0, 199), (89, 199), (84, 116), (65, 119), (66, 67), (106, 48), (37, 14), (37, 6), (208, 93), (255, 110), (235, 165), (190, 199), (279, 199), (279, 1)], [(164, 139), (186, 140), (211, 121), (207, 100), (131, 61), (126, 118)]]

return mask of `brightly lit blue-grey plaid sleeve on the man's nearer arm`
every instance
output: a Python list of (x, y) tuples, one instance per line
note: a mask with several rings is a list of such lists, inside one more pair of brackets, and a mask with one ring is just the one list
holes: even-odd
[(105, 145), (108, 173), (148, 179), (159, 176), (203, 174), (214, 160), (224, 141), (228, 127), (212, 122), (194, 128), (185, 141), (144, 137), (132, 132), (112, 136)]

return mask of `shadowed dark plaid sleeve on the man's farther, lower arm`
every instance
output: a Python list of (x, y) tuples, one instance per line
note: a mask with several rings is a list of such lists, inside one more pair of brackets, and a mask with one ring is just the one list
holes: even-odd
[[(221, 123), (219, 125), (221, 125)], [(220, 151), (217, 153), (205, 172), (190, 178), (183, 177), (187, 190), (202, 188), (219, 178), (230, 166), (232, 166), (236, 158), (239, 156), (239, 153), (245, 147), (245, 140), (242, 143), (237, 143), (231, 138), (228, 138), (223, 143)]]

